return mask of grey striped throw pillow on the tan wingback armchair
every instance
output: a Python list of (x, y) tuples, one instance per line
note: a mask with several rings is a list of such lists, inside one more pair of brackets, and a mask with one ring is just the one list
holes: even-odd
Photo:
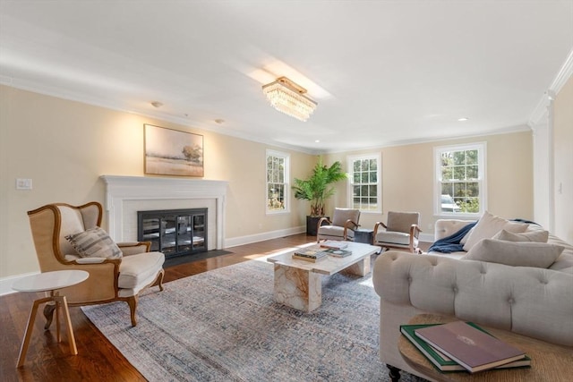
[(107, 232), (99, 227), (68, 234), (65, 239), (72, 244), (82, 258), (119, 259), (122, 257), (119, 247), (111, 240)]

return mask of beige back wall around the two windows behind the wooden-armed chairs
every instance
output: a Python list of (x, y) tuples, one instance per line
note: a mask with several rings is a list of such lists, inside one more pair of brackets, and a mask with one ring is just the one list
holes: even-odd
[[(433, 237), (433, 226), (440, 216), (433, 215), (433, 148), (471, 142), (487, 143), (487, 209), (494, 215), (533, 219), (533, 140), (531, 132), (514, 132), (464, 140), (443, 140), (407, 146), (338, 153), (327, 162), (339, 160), (346, 169), (346, 156), (381, 152), (383, 214), (363, 214), (363, 227), (386, 222), (386, 213), (419, 211), (424, 238)], [(346, 206), (346, 186), (338, 185), (338, 195), (327, 210)]]

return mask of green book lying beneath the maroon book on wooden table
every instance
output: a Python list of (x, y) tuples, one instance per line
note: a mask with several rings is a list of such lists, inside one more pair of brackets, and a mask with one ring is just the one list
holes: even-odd
[[(487, 331), (483, 330), (483, 328), (478, 327), (472, 322), (468, 322), (467, 324), (490, 335)], [(432, 347), (431, 344), (426, 343), (422, 338), (415, 335), (416, 329), (434, 327), (436, 325), (442, 324), (400, 325), (400, 333), (406, 336), (406, 338), (415, 345), (416, 349), (422, 352), (423, 355), (432, 362), (432, 365), (436, 369), (439, 369), (440, 371), (466, 371), (466, 369), (462, 365), (458, 364), (458, 362), (449, 359), (447, 355), (438, 351)], [(523, 368), (528, 366), (531, 366), (531, 359), (528, 356), (525, 356), (520, 360), (506, 363), (505, 365), (501, 365), (495, 369)]]

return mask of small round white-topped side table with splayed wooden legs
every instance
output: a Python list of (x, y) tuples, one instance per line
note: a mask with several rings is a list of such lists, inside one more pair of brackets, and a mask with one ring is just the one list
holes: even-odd
[(70, 319), (70, 311), (68, 310), (68, 302), (65, 296), (60, 295), (57, 291), (67, 286), (80, 284), (86, 280), (90, 274), (84, 270), (58, 270), (54, 272), (45, 272), (38, 275), (27, 276), (12, 284), (12, 289), (18, 292), (49, 292), (48, 297), (34, 301), (32, 309), (30, 310), (30, 317), (28, 318), (28, 326), (24, 334), (24, 339), (21, 343), (20, 355), (18, 356), (18, 364), (16, 367), (21, 368), (26, 359), (26, 352), (30, 345), (30, 336), (34, 328), (34, 321), (38, 312), (39, 304), (54, 301), (56, 303), (56, 338), (57, 342), (61, 342), (60, 336), (60, 318), (59, 308), (64, 308), (65, 327), (68, 332), (68, 342), (70, 344), (70, 352), (73, 355), (78, 353), (75, 345), (75, 337), (73, 336), (72, 320)]

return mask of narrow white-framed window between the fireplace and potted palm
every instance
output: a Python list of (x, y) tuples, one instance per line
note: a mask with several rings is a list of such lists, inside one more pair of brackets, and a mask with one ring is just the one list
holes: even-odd
[(266, 204), (268, 214), (289, 211), (289, 165), (289, 154), (275, 150), (267, 150)]

